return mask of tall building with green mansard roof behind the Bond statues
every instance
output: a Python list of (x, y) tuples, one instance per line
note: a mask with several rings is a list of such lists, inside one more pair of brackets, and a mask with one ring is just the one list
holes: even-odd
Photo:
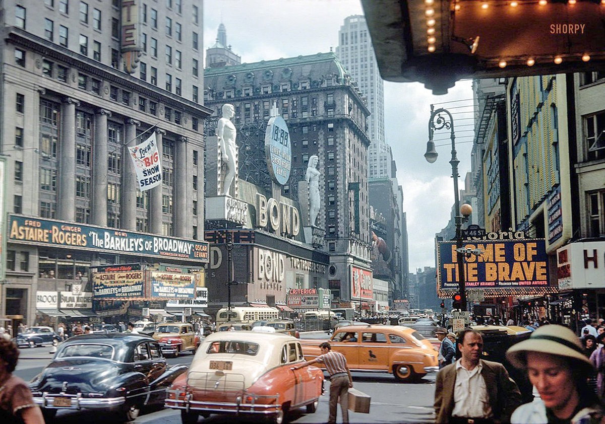
[[(325, 234), (322, 245), (330, 255), (329, 288), (336, 303), (365, 303), (369, 309), (369, 111), (336, 56), (318, 53), (207, 68), (204, 86), (204, 103), (215, 115), (221, 115), (225, 103), (235, 106), (239, 178), (274, 198), (279, 194), (298, 201), (302, 226), (309, 226), (307, 165), (318, 156), (321, 206), (316, 225)], [(274, 104), (286, 120), (292, 144), (290, 178), (280, 187), (272, 185), (264, 152), (264, 131)], [(275, 190), (279, 193), (272, 193)], [(362, 281), (369, 286), (359, 289)]]

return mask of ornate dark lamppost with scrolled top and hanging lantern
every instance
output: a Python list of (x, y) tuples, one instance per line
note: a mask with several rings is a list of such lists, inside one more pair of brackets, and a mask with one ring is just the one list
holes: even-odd
[[(445, 116), (447, 115), (450, 120), (447, 121)], [(464, 204), (462, 208), (460, 207), (460, 198), (458, 193), (458, 164), (460, 161), (457, 157), (456, 152), (456, 135), (454, 134), (454, 118), (452, 118), (451, 113), (447, 109), (439, 108), (437, 110), (434, 109), (433, 104), (431, 104), (431, 118), (428, 120), (428, 143), (427, 143), (427, 153), (424, 154), (427, 162), (433, 163), (437, 160), (437, 150), (435, 150), (435, 143), (433, 141), (433, 133), (436, 130), (440, 129), (449, 129), (450, 130), (450, 139), (452, 141), (452, 158), (450, 160), (450, 164), (452, 165), (452, 178), (454, 179), (454, 210), (456, 211), (456, 217), (454, 217), (456, 222), (456, 248), (461, 248), (463, 243), (462, 236), (462, 222), (473, 212), (473, 208), (471, 205)], [(458, 292), (460, 293), (460, 310), (466, 310), (466, 283), (465, 283), (465, 274), (464, 274), (464, 260), (463, 255), (459, 251), (456, 251), (456, 265), (458, 268)]]

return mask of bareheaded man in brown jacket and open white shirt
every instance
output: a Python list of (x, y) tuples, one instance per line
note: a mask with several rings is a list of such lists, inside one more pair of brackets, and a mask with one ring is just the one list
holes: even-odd
[(435, 384), (436, 423), (508, 423), (521, 393), (498, 362), (481, 359), (483, 338), (475, 330), (458, 336), (462, 358), (439, 370)]

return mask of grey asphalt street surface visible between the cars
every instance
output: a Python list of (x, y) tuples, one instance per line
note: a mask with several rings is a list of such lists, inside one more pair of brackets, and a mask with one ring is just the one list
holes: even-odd
[[(317, 338), (317, 335), (313, 335)], [(19, 364), (15, 374), (29, 381), (50, 362), (53, 354), (51, 347), (25, 348), (21, 350)], [(168, 364), (189, 364), (193, 355), (183, 353), (178, 358), (169, 358)], [(383, 373), (353, 373), (353, 387), (371, 396), (370, 414), (352, 413), (349, 411), (351, 423), (430, 423), (434, 420), (433, 397), (435, 375), (429, 374), (417, 383), (396, 382), (392, 374)], [(292, 411), (286, 416), (292, 423), (325, 423), (328, 419), (329, 382), (325, 385), (325, 394), (319, 399), (319, 406), (314, 414), (306, 414), (303, 409)], [(103, 416), (99, 412), (60, 411), (56, 422), (65, 424), (81, 423), (112, 423), (112, 416)], [(200, 417), (199, 423), (233, 424), (263, 422), (252, 420), (250, 417), (233, 417), (212, 415), (209, 419)], [(340, 410), (336, 422), (342, 422)], [(180, 424), (180, 413), (175, 410), (143, 411), (135, 423), (149, 424)]]

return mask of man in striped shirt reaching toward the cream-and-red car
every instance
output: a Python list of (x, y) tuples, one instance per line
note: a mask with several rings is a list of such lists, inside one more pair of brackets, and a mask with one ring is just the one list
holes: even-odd
[(319, 362), (324, 364), (325, 370), (330, 374), (330, 417), (328, 424), (336, 423), (336, 405), (340, 403), (342, 412), (342, 423), (348, 424), (348, 388), (353, 387), (351, 371), (348, 370), (347, 358), (340, 352), (332, 352), (332, 347), (328, 342), (319, 345), (321, 355), (310, 361), (292, 367), (308, 367)]

